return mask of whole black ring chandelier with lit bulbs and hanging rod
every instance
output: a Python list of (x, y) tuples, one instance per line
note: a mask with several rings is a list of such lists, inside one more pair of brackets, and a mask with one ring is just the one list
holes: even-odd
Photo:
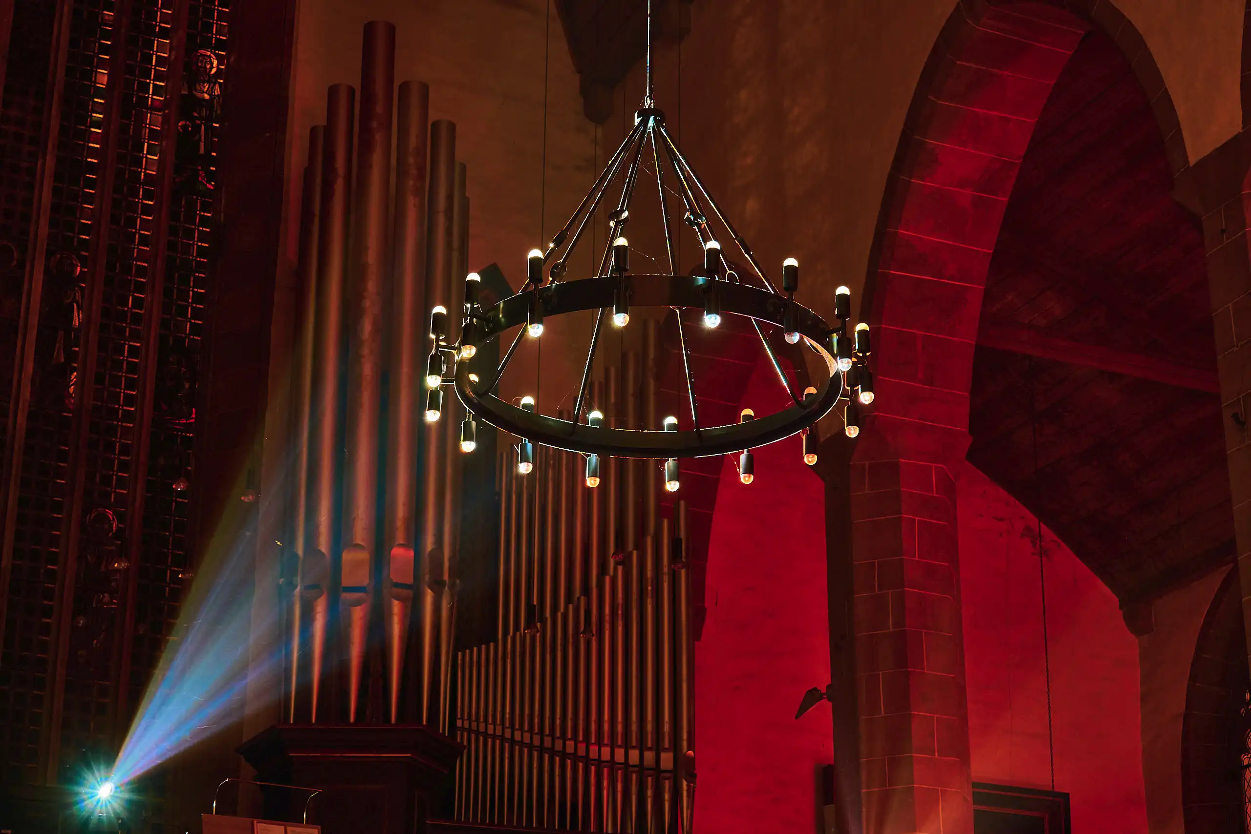
[[(804, 433), (804, 460), (816, 463), (816, 438), (808, 429), (846, 399), (844, 425), (848, 436), (859, 431), (859, 406), (873, 401), (873, 375), (868, 368), (868, 325), (858, 324), (849, 330), (851, 290), (839, 286), (834, 295), (834, 319), (826, 320), (794, 299), (799, 286), (799, 265), (793, 258), (782, 264), (781, 290), (769, 279), (751, 246), (729, 221), (721, 205), (713, 199), (703, 180), (687, 161), (664, 123), (664, 114), (656, 106), (652, 75), (652, 3), (647, 3), (647, 88), (641, 108), (634, 114), (634, 125), (624, 141), (608, 159), (603, 171), (587, 191), (569, 220), (552, 238), (547, 250), (534, 249), (527, 259), (525, 283), (513, 296), (493, 306), (479, 303), (479, 280), (469, 274), (465, 280), (464, 306), (462, 309), (459, 339), (449, 331), (448, 314), (437, 309), (432, 315), (430, 354), (427, 379), (427, 419), (438, 419), (442, 410), (442, 386), (454, 385), (460, 401), (468, 410), (462, 431), (475, 431), (477, 420), (503, 429), (520, 438), (519, 468), (533, 456), (533, 444), (579, 451), (588, 458), (620, 456), (664, 459), (677, 470), (678, 458), (699, 458), (718, 454), (741, 454), (754, 446), (774, 443), (793, 434)], [(638, 174), (644, 154), (651, 156), (656, 169), (656, 188), (659, 194), (661, 220), (668, 255), (668, 273), (638, 274), (629, 266), (629, 243), (626, 229), (631, 220), (631, 205), (638, 184)], [(683, 223), (698, 238), (703, 250), (703, 264), (691, 275), (679, 273), (674, 250), (674, 229), (671, 214), (673, 193), (666, 181), (666, 168), (677, 183)], [(569, 263), (578, 243), (595, 213), (605, 200), (613, 183), (620, 179), (620, 194), (615, 208), (608, 215), (609, 234), (599, 268), (594, 275), (572, 280)], [(736, 268), (723, 254), (708, 211), (719, 224), (726, 236), (746, 260), (746, 268)], [(739, 276), (742, 271), (752, 283)], [(677, 418), (666, 418), (656, 429), (619, 429), (605, 425), (598, 411), (585, 414), (590, 370), (608, 318), (613, 326), (628, 326), (631, 310), (641, 308), (668, 308), (677, 319), (679, 351), (683, 360), (691, 428), (679, 428)], [(691, 326), (683, 320), (683, 310), (702, 314), (704, 328), (717, 328), (722, 316), (738, 315), (751, 320), (764, 354), (786, 390), (791, 404), (773, 414), (756, 416), (749, 410), (738, 423), (704, 425), (699, 419), (694, 376), (691, 369), (688, 345)], [(523, 398), (513, 405), (498, 398), (495, 389), (500, 376), (512, 361), (518, 344), (524, 338), (543, 335), (547, 316), (564, 315), (582, 310), (595, 310), (590, 346), (582, 369), (578, 395), (569, 419), (540, 414), (533, 398)], [(493, 339), (518, 328), (499, 365), (470, 373), (468, 360)], [(766, 338), (764, 328), (782, 328), (786, 341), (797, 344), (801, 339), (816, 351), (827, 368), (824, 381), (797, 394), (791, 385), (782, 363)], [(444, 375), (444, 356), (453, 363), (452, 376)], [(588, 465), (590, 460), (588, 460)], [(671, 466), (667, 466), (669, 469)], [(676, 478), (666, 479), (676, 484)], [(744, 483), (751, 483), (748, 478)], [(669, 486), (674, 489), (676, 486)]]

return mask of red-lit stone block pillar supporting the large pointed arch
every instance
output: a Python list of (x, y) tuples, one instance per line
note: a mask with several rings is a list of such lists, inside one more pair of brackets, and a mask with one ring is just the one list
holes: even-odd
[(972, 834), (953, 480), (968, 435), (874, 431), (851, 464), (864, 830)]

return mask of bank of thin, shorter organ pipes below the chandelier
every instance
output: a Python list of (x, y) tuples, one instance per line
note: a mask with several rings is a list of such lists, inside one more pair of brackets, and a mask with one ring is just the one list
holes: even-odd
[[(646, 323), (642, 350), (592, 381), (612, 425), (654, 425), (656, 361)], [(580, 455), (540, 448), (528, 475), (500, 458), (498, 634), (455, 664), (458, 685), (474, 690), (454, 721), (467, 756), (460, 821), (691, 830), (686, 505), (662, 513), (656, 466), (604, 464), (588, 488)]]

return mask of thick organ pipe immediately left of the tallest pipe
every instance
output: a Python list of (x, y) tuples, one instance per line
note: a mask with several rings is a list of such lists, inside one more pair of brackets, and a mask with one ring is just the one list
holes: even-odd
[(317, 338), (313, 348), (311, 430), (309, 440), (308, 548), (300, 569), (300, 594), (310, 610), (309, 720), (322, 701), (330, 621), (330, 554), (334, 553), (335, 489), (339, 469), (339, 385), (347, 335), (344, 293), (348, 275), (348, 198), (355, 90), (347, 84), (327, 94), (325, 154), (322, 166), (322, 221), (318, 230)]

